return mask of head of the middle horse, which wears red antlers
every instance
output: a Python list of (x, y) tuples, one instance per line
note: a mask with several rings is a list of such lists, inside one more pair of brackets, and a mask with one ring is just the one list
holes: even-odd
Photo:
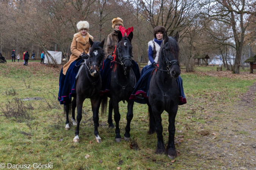
[(132, 68), (132, 37), (132, 32), (130, 32), (128, 36), (124, 37), (121, 31), (118, 32), (118, 44), (116, 46), (116, 61), (123, 65), (125, 72), (130, 71), (130, 69)]

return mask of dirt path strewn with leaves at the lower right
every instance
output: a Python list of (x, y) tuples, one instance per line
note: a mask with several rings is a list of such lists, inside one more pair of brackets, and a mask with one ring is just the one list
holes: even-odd
[[(203, 169), (256, 169), (256, 83), (239, 102), (220, 106), (207, 124), (199, 125), (190, 154), (205, 162)], [(209, 131), (203, 136), (200, 132)], [(193, 165), (192, 165), (193, 167)]]

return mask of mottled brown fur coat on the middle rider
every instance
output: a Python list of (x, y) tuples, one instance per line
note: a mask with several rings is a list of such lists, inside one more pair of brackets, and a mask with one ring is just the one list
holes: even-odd
[(106, 57), (109, 55), (113, 55), (115, 51), (115, 45), (118, 43), (118, 37), (117, 37), (118, 32), (115, 31), (115, 29), (108, 35), (107, 39), (107, 47), (105, 48), (105, 54)]

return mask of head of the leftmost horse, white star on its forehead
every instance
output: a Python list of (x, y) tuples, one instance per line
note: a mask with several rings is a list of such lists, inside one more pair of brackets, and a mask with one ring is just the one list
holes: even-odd
[(91, 45), (90, 49), (90, 57), (89, 60), (89, 68), (90, 68), (90, 74), (93, 77), (98, 77), (100, 75), (100, 68), (104, 59), (104, 42), (105, 39), (102, 40), (102, 42), (93, 42), (89, 38), (89, 42)]

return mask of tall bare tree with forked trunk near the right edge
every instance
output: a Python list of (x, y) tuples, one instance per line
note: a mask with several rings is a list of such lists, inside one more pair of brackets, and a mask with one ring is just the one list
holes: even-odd
[(255, 14), (255, 1), (251, 0), (205, 0), (206, 16), (224, 22), (232, 28), (236, 59), (233, 73), (239, 74), (245, 31), (250, 17)]

